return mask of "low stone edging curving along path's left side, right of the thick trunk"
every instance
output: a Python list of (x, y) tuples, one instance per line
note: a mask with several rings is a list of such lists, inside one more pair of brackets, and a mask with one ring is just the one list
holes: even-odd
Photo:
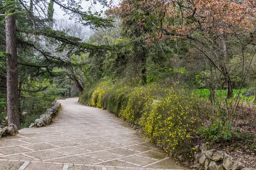
[(49, 125), (52, 122), (52, 118), (58, 113), (58, 109), (61, 107), (61, 103), (55, 103), (52, 108), (46, 110), (44, 114), (40, 116), (40, 119), (36, 119), (35, 123), (31, 123), (29, 127), (42, 127)]

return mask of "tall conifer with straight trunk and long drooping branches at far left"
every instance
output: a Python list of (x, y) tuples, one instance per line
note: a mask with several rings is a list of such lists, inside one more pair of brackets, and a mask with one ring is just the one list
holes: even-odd
[[(107, 1), (99, 0), (102, 5), (106, 5)], [(90, 25), (92, 27), (105, 27), (110, 26), (112, 21), (105, 20), (99, 16), (88, 11), (82, 11), (79, 3), (73, 0), (67, 0), (67, 5), (62, 4), (61, 0), (51, 0), (50, 4), (45, 3), (44, 0), (38, 0), (37, 3), (30, 3), (31, 6), (27, 6), (25, 0), (1, 0), (0, 10), (5, 14), (5, 28), (6, 28), (6, 52), (9, 54), (9, 58), (6, 60), (7, 65), (7, 114), (9, 124), (14, 123), (20, 128), (19, 122), (19, 109), (18, 109), (18, 72), (17, 64), (24, 65), (26, 67), (37, 68), (38, 72), (46, 72), (49, 76), (56, 76), (51, 70), (53, 66), (62, 67), (63, 65), (70, 66), (72, 63), (66, 61), (65, 57), (56, 56), (54, 53), (47, 51), (44, 45), (38, 41), (40, 37), (48, 37), (52, 42), (58, 46), (57, 51), (68, 51), (67, 55), (73, 54), (79, 51), (93, 51), (95, 46), (87, 43), (82, 43), (79, 38), (71, 37), (65, 32), (56, 31), (49, 28), (49, 22), (52, 22), (52, 5), (56, 3), (68, 14), (73, 14), (74, 19), (80, 21), (84, 26)], [(32, 6), (34, 8), (32, 8)], [(49, 7), (49, 15), (47, 14), (47, 8)], [(33, 11), (36, 11), (33, 13)], [(18, 15), (17, 15), (18, 14)], [(49, 19), (47, 19), (49, 17)], [(16, 28), (18, 26), (18, 28)], [(51, 25), (50, 25), (51, 26)], [(16, 34), (18, 31), (18, 34)], [(17, 60), (17, 45), (26, 49), (26, 53), (35, 53), (40, 55), (39, 61), (29, 59), (28, 56), (35, 55), (22, 55), (20, 53)], [(101, 48), (101, 47), (96, 47)], [(104, 47), (101, 48), (104, 50)], [(41, 65), (40, 65), (41, 64)], [(66, 73), (67, 74), (67, 73)], [(58, 75), (58, 74), (57, 74)]]

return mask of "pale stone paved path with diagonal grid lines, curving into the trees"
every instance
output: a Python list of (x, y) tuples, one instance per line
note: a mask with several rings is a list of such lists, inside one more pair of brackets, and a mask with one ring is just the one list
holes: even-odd
[(116, 116), (77, 100), (60, 100), (52, 125), (0, 139), (0, 170), (181, 169)]

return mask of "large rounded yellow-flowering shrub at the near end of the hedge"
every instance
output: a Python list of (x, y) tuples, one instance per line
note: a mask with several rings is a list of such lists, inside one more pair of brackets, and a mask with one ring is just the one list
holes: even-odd
[(170, 88), (167, 96), (145, 109), (140, 125), (145, 135), (152, 142), (163, 144), (166, 151), (192, 151), (192, 140), (199, 125), (198, 107), (193, 94)]

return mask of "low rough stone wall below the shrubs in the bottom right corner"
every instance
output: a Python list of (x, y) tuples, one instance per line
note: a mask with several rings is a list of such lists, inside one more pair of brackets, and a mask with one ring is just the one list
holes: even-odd
[[(182, 161), (182, 156), (179, 156)], [(239, 161), (233, 161), (232, 156), (227, 155), (224, 151), (209, 149), (205, 144), (195, 147), (193, 170), (256, 170), (255, 168), (244, 167)]]

